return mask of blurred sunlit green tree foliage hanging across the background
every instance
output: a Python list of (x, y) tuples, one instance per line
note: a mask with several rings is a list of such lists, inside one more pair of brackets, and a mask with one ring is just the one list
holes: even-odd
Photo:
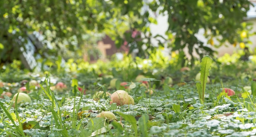
[[(65, 58), (82, 55), (88, 35), (103, 33), (117, 47), (125, 43), (130, 52), (138, 49), (140, 57), (147, 57), (157, 49), (151, 39), (163, 38), (152, 36), (149, 24), (157, 21), (150, 13), (168, 16), (168, 38), (158, 47), (167, 46), (180, 53), (187, 47), (191, 55), (193, 51), (200, 57), (213, 55), (214, 51), (195, 34), (203, 28), (209, 43), (216, 36), (219, 45), (240, 42), (238, 32), (245, 28), (242, 22), (250, 4), (248, 0), (0, 0), (0, 63), (18, 59), (26, 40), (20, 41), (35, 31), (52, 45), (37, 49), (42, 56), (44, 52)], [(134, 31), (143, 35), (132, 36)], [(192, 64), (194, 60), (192, 56)]]

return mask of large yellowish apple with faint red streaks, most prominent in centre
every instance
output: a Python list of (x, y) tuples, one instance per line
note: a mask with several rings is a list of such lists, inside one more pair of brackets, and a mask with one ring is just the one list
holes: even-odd
[(124, 104), (134, 105), (134, 99), (124, 90), (118, 90), (114, 92), (111, 96), (110, 104), (117, 103), (118, 106), (123, 106)]

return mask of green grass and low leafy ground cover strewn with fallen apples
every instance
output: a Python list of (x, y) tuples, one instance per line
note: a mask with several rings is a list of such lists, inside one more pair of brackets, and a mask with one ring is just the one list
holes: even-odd
[(240, 57), (69, 60), (33, 73), (14, 61), (0, 75), (0, 136), (254, 136), (256, 56)]

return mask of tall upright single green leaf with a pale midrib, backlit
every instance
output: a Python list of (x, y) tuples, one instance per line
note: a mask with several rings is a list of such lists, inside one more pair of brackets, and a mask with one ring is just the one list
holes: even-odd
[(199, 99), (201, 104), (204, 104), (204, 93), (205, 93), (206, 83), (207, 83), (210, 70), (211, 70), (211, 57), (206, 55), (202, 58), (202, 62), (201, 62), (200, 83), (196, 84), (196, 88), (198, 89), (198, 94), (199, 94)]

